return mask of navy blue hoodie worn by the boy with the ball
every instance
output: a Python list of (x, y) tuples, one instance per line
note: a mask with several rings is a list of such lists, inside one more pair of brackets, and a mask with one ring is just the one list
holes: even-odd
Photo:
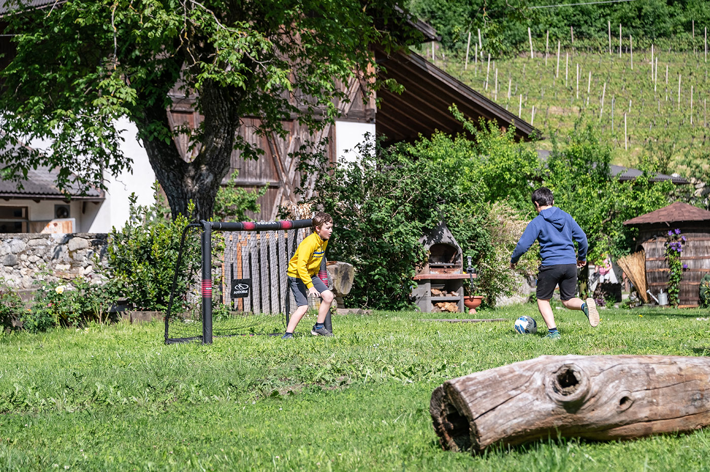
[[(542, 210), (528, 223), (513, 256), (510, 256), (510, 263), (517, 263), (535, 239), (540, 241), (542, 265), (576, 264), (577, 260), (586, 260), (586, 234), (572, 216), (557, 207)], [(574, 251), (574, 241), (579, 244), (578, 255)]]

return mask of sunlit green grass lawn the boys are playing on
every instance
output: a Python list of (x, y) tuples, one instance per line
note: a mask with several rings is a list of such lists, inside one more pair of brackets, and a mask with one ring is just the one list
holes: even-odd
[(339, 316), (332, 339), (304, 319), (288, 342), (165, 346), (157, 323), (5, 335), (0, 470), (710, 470), (710, 431), (442, 451), (428, 408), (449, 378), (543, 354), (710, 353), (707, 310), (604, 310), (592, 329), (555, 309), (554, 342), (515, 334), (522, 314), (542, 321), (528, 304), (479, 313), (509, 322)]

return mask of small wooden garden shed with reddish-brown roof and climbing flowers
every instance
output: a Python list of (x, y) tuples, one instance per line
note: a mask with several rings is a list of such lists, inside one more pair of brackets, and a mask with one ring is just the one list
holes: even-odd
[(665, 260), (665, 242), (668, 231), (679, 229), (685, 236), (680, 259), (687, 264), (680, 282), (679, 305), (699, 305), (700, 280), (710, 273), (710, 212), (690, 204), (675, 202), (654, 212), (624, 221), (626, 226), (638, 227), (635, 251), (646, 254), (646, 282), (656, 295), (667, 291), (668, 263)]

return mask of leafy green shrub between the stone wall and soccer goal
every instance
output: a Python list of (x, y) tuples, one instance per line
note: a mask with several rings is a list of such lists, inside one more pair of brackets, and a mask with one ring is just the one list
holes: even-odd
[[(129, 221), (123, 229), (114, 227), (109, 234), (107, 268), (103, 275), (113, 280), (114, 293), (128, 298), (134, 308), (165, 311), (178, 262), (180, 237), (189, 221), (181, 214), (170, 219), (170, 210), (159, 197), (157, 183), (153, 190), (155, 203), (148, 206), (136, 204), (135, 194), (131, 195)], [(188, 213), (193, 211), (191, 202)], [(191, 270), (200, 267), (200, 238), (195, 233), (185, 239), (176, 285), (180, 297), (173, 303), (175, 311), (185, 307), (182, 295), (187, 292)]]

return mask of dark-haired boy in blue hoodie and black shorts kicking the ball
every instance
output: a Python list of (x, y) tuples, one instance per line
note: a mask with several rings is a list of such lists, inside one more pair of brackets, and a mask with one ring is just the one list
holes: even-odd
[[(510, 268), (514, 269), (520, 256), (530, 249), (532, 243), (540, 241), (540, 258), (542, 264), (537, 273), (537, 309), (547, 324), (549, 339), (559, 339), (559, 331), (555, 325), (555, 315), (552, 314), (550, 299), (559, 285), (559, 299), (565, 307), (578, 309), (586, 314), (591, 326), (599, 324), (599, 312), (593, 298), (584, 302), (574, 297), (577, 291), (577, 268), (586, 265), (586, 234), (581, 230), (572, 216), (553, 207), (555, 199), (552, 190), (541, 187), (532, 192), (532, 204), (535, 205), (537, 216), (528, 224), (515, 246), (513, 256), (510, 256)], [(574, 251), (574, 241), (577, 241), (579, 251)]]

